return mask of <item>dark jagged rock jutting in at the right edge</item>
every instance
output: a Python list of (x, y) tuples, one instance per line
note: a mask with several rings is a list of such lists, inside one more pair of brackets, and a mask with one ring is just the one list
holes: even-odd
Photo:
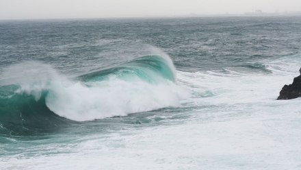
[[(301, 74), (301, 68), (299, 72)], [(295, 99), (298, 97), (301, 97), (301, 75), (293, 78), (293, 84), (285, 84), (277, 99)]]

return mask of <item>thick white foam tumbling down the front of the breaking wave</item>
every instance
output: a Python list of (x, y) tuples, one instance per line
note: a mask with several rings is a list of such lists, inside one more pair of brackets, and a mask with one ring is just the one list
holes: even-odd
[(125, 116), (168, 106), (179, 106), (189, 93), (172, 82), (148, 84), (107, 80), (86, 86), (80, 82), (56, 83), (46, 98), (50, 110), (75, 121)]

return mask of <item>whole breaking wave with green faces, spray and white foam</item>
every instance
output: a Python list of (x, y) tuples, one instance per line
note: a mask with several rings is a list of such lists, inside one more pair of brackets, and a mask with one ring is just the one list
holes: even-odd
[[(24, 73), (24, 66), (38, 69)], [(39, 62), (7, 70), (0, 86), (2, 135), (49, 132), (72, 121), (176, 106), (184, 94), (174, 84), (171, 60), (164, 56), (144, 56), (76, 80)]]

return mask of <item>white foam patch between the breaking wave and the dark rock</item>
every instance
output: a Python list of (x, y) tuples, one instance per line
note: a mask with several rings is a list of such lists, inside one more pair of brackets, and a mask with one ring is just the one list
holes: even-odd
[[(289, 64), (287, 60), (265, 63), (272, 73), (245, 73), (237, 71), (178, 71), (178, 81), (194, 91), (190, 101), (203, 104), (250, 104), (275, 100), (285, 84), (291, 84), (299, 75), (301, 61)], [(211, 95), (208, 95), (211, 94)]]

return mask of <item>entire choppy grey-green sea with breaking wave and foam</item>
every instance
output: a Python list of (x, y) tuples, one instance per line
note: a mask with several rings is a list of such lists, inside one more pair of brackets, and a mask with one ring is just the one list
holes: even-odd
[(301, 16), (0, 21), (0, 169), (301, 169)]

